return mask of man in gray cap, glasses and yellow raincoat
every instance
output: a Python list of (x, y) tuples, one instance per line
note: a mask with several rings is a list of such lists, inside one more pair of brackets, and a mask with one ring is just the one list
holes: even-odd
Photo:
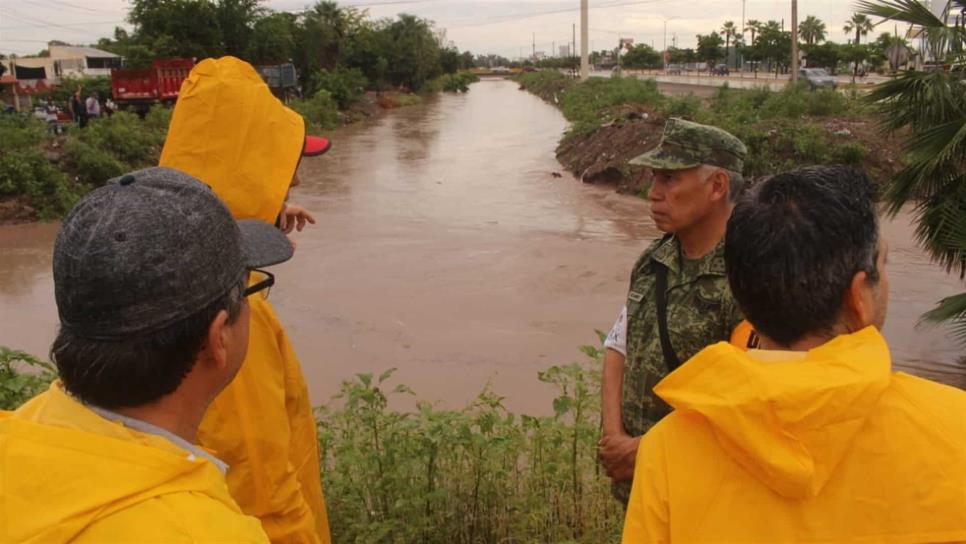
[(54, 246), (61, 381), (0, 413), (0, 542), (267, 543), (195, 444), (245, 358), (246, 300), (273, 282), (246, 288), (249, 270), (291, 256), (171, 169), (84, 197)]

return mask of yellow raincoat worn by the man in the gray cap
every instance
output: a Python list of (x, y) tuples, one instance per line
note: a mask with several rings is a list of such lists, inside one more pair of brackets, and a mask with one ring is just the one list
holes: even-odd
[(210, 461), (102, 418), (58, 383), (0, 412), (0, 542), (68, 541), (268, 542)]

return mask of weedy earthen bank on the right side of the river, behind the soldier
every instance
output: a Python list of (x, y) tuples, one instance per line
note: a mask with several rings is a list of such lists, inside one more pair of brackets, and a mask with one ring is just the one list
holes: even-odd
[(634, 78), (592, 78), (577, 83), (558, 72), (522, 74), (522, 90), (561, 109), (571, 125), (557, 159), (585, 183), (613, 185), (638, 194), (647, 172), (627, 162), (653, 148), (668, 117), (719, 126), (748, 146), (745, 175), (751, 178), (811, 164), (853, 164), (874, 178), (902, 168), (902, 141), (877, 130), (873, 113), (857, 96), (789, 88), (736, 90), (721, 87), (702, 99), (665, 94), (659, 84)]

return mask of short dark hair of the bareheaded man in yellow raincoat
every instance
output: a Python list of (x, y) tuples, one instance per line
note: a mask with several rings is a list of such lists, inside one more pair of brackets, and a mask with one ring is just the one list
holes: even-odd
[(879, 280), (875, 199), (864, 172), (816, 166), (766, 179), (739, 200), (725, 263), (756, 330), (783, 345), (831, 332), (853, 276)]

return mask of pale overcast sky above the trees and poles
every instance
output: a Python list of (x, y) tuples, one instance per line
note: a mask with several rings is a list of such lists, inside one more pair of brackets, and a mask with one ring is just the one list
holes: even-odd
[[(299, 11), (308, 0), (265, 0), (265, 7)], [(412, 13), (435, 21), (461, 50), (497, 53), (507, 57), (529, 54), (536, 49), (549, 53), (565, 45), (578, 24), (579, 0), (346, 0), (343, 6), (367, 9), (373, 17)], [(618, 36), (664, 47), (664, 19), (667, 40), (676, 37), (680, 47), (693, 47), (695, 35), (721, 28), (727, 20), (741, 24), (742, 0), (590, 0), (590, 45), (612, 48)], [(785, 18), (790, 26), (789, 0), (745, 0), (745, 19), (766, 21)], [(125, 0), (0, 0), (0, 52), (33, 54), (48, 40), (92, 43), (111, 36), (125, 22)], [(829, 39), (844, 42), (842, 31), (851, 16), (849, 0), (799, 0), (799, 19), (815, 15), (829, 31)], [(888, 25), (891, 31), (891, 25)], [(886, 30), (883, 28), (883, 30)], [(876, 32), (878, 33), (878, 31)]]

